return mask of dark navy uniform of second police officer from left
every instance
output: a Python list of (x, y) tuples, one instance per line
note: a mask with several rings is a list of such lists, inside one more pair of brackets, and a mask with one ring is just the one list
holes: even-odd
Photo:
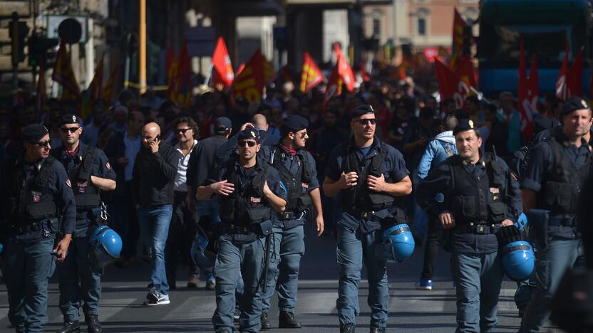
[(60, 310), (64, 322), (78, 322), (78, 308), (83, 304), (87, 320), (99, 315), (102, 268), (93, 265), (88, 257), (88, 235), (104, 223), (100, 218), (100, 189), (91, 183), (91, 176), (115, 180), (115, 171), (103, 150), (78, 142), (75, 154), (58, 148), (51, 152), (66, 167), (76, 201), (76, 231), (73, 233), (68, 256), (58, 263)]

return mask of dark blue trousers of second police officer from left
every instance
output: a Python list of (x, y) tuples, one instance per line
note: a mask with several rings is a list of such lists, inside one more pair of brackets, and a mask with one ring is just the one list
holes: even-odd
[(89, 247), (88, 237), (72, 238), (66, 260), (57, 264), (64, 322), (79, 320), (78, 308), (82, 301), (85, 316), (99, 315), (102, 269), (93, 268), (89, 262)]

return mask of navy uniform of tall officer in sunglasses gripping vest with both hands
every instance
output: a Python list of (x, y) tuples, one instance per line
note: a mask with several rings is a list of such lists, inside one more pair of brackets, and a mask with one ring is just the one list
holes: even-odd
[[(337, 308), (340, 324), (356, 322), (359, 314), (359, 282), (362, 264), (366, 266), (371, 307), (371, 325), (384, 329), (387, 325), (389, 291), (386, 258), (376, 258), (376, 245), (381, 243), (381, 222), (392, 216), (405, 220), (394, 198), (371, 193), (366, 187), (366, 175), (385, 176), (386, 183), (402, 181), (409, 172), (401, 152), (374, 137), (373, 144), (359, 148), (354, 139), (339, 145), (328, 160), (326, 177), (338, 181), (341, 173), (359, 172), (357, 185), (339, 193), (337, 218), (340, 285)], [(405, 223), (405, 221), (403, 221)]]

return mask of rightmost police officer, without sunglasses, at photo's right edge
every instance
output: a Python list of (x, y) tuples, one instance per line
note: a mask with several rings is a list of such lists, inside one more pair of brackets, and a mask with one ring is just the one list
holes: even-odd
[(583, 253), (575, 215), (591, 166), (591, 147), (584, 139), (591, 128), (591, 107), (574, 98), (562, 105), (560, 118), (562, 127), (530, 151), (521, 181), (538, 251), (537, 289), (523, 315), (522, 332), (540, 331), (550, 317), (550, 302), (564, 271)]

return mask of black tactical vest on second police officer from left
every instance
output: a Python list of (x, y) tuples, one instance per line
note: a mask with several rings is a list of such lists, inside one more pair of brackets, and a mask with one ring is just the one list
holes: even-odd
[[(56, 150), (61, 154), (61, 149)], [(57, 156), (56, 159), (59, 157)], [(91, 182), (93, 174), (93, 161), (95, 159), (95, 147), (86, 146), (82, 161), (78, 166), (68, 171), (68, 178), (72, 183), (76, 211), (88, 211), (101, 205), (100, 190)]]

